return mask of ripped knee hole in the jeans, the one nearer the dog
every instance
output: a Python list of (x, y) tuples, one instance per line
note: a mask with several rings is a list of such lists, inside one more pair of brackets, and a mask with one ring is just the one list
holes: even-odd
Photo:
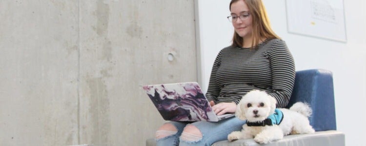
[(195, 142), (202, 139), (200, 129), (193, 125), (187, 125), (182, 132), (181, 139), (184, 141)]

